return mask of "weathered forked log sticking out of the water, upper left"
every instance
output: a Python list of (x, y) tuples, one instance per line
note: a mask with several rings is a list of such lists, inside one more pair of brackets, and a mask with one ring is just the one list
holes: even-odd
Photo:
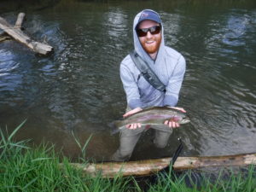
[(20, 15), (18, 15), (15, 26), (11, 26), (6, 20), (0, 17), (0, 28), (3, 29), (4, 32), (9, 34), (9, 36), (15, 38), (15, 40), (19, 41), (21, 44), (26, 44), (27, 47), (29, 47), (38, 54), (47, 55), (49, 53), (52, 53), (54, 49), (51, 46), (32, 40), (20, 30), (24, 18), (25, 14), (20, 13)]

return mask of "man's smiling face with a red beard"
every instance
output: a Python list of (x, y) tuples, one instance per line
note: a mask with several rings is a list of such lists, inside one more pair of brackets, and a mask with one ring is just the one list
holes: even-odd
[[(153, 20), (143, 20), (139, 24), (138, 29), (146, 29), (152, 26), (160, 26), (160, 24), (157, 22), (154, 22)], [(143, 49), (148, 54), (157, 53), (158, 49), (160, 48), (160, 43), (162, 39), (161, 32), (157, 34), (151, 34), (148, 31), (146, 36), (138, 37), (138, 38), (143, 46)]]

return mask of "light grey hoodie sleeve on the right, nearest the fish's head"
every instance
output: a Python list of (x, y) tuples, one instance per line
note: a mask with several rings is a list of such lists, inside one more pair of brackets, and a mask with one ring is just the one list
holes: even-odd
[(166, 86), (166, 96), (164, 105), (176, 106), (178, 101), (178, 94), (183, 83), (183, 76), (186, 70), (186, 61), (181, 55), (177, 60), (177, 65), (173, 70), (172, 76)]

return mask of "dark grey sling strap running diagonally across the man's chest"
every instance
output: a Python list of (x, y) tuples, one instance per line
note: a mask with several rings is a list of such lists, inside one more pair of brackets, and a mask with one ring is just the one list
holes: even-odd
[(131, 51), (130, 55), (138, 70), (143, 74), (144, 79), (146, 79), (155, 89), (165, 92), (166, 85), (160, 81), (154, 71), (148, 66), (148, 63), (143, 61), (141, 56), (138, 55), (135, 50)]

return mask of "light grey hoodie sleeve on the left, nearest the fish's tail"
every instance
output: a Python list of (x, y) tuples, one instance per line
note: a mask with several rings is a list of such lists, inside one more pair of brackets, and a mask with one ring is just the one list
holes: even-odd
[(135, 81), (130, 69), (125, 65), (120, 66), (120, 78), (126, 94), (128, 106), (133, 108), (142, 108), (137, 82)]

